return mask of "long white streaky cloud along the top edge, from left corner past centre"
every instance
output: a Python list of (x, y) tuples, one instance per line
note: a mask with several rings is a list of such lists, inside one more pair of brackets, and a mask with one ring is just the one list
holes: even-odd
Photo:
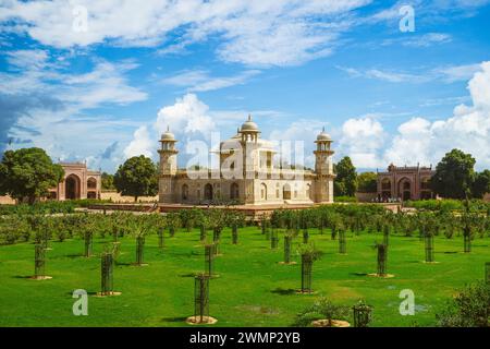
[[(161, 46), (184, 49), (213, 35), (221, 38), (219, 57), (250, 65), (291, 65), (330, 53), (339, 25), (351, 10), (370, 0), (205, 1), (205, 0), (81, 0), (3, 1), (0, 24), (24, 31), (57, 48), (110, 43), (120, 46)], [(87, 10), (86, 31), (75, 31)], [(179, 32), (177, 39), (173, 32)]]

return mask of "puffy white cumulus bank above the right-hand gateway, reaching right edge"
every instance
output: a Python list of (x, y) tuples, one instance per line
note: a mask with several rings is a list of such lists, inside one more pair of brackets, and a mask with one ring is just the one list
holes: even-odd
[(436, 165), (445, 153), (460, 148), (476, 158), (477, 169), (489, 168), (490, 62), (480, 64), (468, 82), (468, 91), (471, 104), (458, 105), (452, 117), (437, 121), (412, 118), (400, 124), (391, 139), (376, 120), (347, 120), (342, 128), (340, 151), (352, 156), (355, 166), (375, 168), (390, 163)]

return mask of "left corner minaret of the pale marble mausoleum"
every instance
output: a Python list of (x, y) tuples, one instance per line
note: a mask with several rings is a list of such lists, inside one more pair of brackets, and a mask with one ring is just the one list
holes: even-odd
[(175, 149), (176, 142), (175, 136), (167, 127), (167, 132), (161, 135), (161, 147), (158, 151), (158, 154), (160, 154), (160, 176), (158, 188), (160, 202), (163, 203), (173, 202), (174, 178), (177, 170), (176, 155), (179, 153)]

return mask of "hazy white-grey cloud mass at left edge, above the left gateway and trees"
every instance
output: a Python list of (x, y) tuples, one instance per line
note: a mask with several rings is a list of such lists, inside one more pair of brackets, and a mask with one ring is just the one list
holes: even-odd
[[(44, 50), (16, 50), (5, 57), (10, 65), (0, 72), (0, 152), (19, 146), (9, 144), (9, 139), (21, 139), (29, 140), (24, 146), (40, 146), (54, 159), (86, 159), (125, 141), (122, 129), (131, 124), (109, 116), (88, 116), (87, 110), (147, 98), (127, 82), (125, 73), (136, 68), (128, 61), (97, 60), (85, 73), (72, 73), (68, 62)], [(105, 158), (94, 160), (100, 165)]]

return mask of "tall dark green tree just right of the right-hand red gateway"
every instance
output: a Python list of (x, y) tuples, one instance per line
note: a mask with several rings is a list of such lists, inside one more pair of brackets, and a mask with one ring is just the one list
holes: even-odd
[(460, 149), (446, 153), (436, 167), (430, 183), (442, 197), (464, 198), (475, 181), (475, 158)]

